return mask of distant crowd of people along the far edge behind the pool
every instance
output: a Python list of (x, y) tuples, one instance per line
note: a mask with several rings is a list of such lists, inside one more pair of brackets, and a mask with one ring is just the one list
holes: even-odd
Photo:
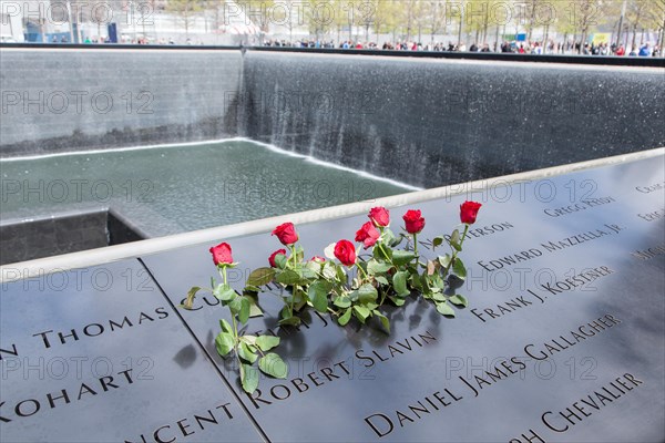
[(315, 48), (315, 49), (367, 49), (367, 50), (391, 50), (391, 51), (434, 51), (434, 52), (502, 52), (519, 54), (583, 54), (583, 55), (628, 55), (628, 56), (661, 56), (662, 50), (658, 45), (652, 47), (648, 42), (638, 47), (631, 47), (626, 50), (623, 43), (584, 43), (581, 42), (554, 42), (550, 40), (546, 44), (542, 42), (518, 42), (503, 41), (501, 44), (490, 45), (489, 43), (473, 43), (467, 47), (462, 44), (419, 43), (419, 42), (385, 42), (378, 45), (375, 42), (354, 42), (344, 40), (338, 44), (334, 41), (321, 40), (299, 40), (289, 42), (287, 40), (268, 40), (264, 43), (266, 47), (286, 47), (286, 48)]

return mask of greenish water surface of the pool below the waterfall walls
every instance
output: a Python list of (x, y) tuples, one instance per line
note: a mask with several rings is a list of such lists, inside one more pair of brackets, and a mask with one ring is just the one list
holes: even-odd
[(149, 237), (412, 189), (245, 140), (0, 161), (2, 223), (111, 208)]

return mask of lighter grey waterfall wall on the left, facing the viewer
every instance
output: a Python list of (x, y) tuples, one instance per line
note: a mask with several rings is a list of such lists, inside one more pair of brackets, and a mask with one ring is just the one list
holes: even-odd
[(3, 48), (0, 156), (236, 135), (238, 50)]

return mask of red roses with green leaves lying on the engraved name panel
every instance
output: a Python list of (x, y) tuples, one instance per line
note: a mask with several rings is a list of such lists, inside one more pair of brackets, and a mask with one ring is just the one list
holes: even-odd
[(282, 299), (280, 326), (298, 326), (299, 313), (315, 309), (332, 316), (340, 326), (351, 319), (361, 324), (376, 319), (377, 327), (390, 333), (390, 321), (381, 307), (387, 303), (401, 307), (411, 296), (428, 300), (442, 316), (454, 317), (451, 305), (468, 305), (467, 298), (454, 290), (458, 286), (454, 280), (463, 281), (467, 277), (459, 253), (481, 206), (475, 202), (460, 206), (461, 233), (456, 228), (448, 236), (421, 241), (434, 251), (444, 244), (449, 247), (448, 253), (433, 259), (421, 257), (418, 251), (418, 235), (426, 223), (420, 210), (407, 210), (402, 216), (403, 229), (396, 234), (390, 229), (390, 212), (383, 207), (372, 208), (369, 222), (356, 233), (359, 246), (341, 239), (325, 249), (326, 258), (314, 256), (309, 260), (305, 260), (294, 224), (285, 223), (273, 230), (284, 248), (268, 256), (269, 267), (249, 274), (242, 293), (233, 289), (226, 278), (227, 268), (237, 266), (232, 248), (226, 243), (219, 244), (211, 248), (211, 254), (222, 282), (212, 279), (211, 288), (193, 287), (182, 307), (191, 309), (198, 291), (208, 290), (228, 308), (232, 323), (219, 320), (221, 332), (215, 347), (222, 357), (235, 354), (243, 389), (253, 393), (258, 387), (258, 371), (275, 378), (286, 378), (288, 373), (282, 358), (269, 352), (279, 344), (279, 338), (238, 332), (238, 324), (244, 326), (250, 317), (263, 315), (258, 307), (262, 293), (275, 292)]

